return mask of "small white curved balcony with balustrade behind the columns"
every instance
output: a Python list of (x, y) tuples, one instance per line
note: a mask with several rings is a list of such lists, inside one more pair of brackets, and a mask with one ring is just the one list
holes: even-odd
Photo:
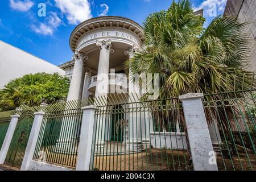
[[(97, 75), (92, 76), (89, 92), (95, 93), (97, 84)], [(110, 90), (115, 90), (116, 86), (119, 88), (127, 89), (127, 77), (124, 74), (109, 73), (109, 93)]]

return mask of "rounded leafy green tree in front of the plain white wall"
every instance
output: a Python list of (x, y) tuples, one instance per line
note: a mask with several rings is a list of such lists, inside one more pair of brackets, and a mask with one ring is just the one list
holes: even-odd
[(0, 90), (0, 110), (11, 110), (24, 104), (51, 104), (65, 100), (68, 95), (69, 79), (58, 73), (36, 73), (16, 78)]

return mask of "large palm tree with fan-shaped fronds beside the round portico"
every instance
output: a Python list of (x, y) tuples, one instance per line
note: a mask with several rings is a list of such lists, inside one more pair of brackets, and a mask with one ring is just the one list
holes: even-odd
[[(189, 0), (180, 0), (173, 2), (166, 11), (149, 15), (144, 21), (146, 48), (127, 60), (126, 68), (131, 73), (159, 75), (160, 93), (156, 106), (178, 106), (178, 99), (166, 98), (177, 98), (186, 93), (204, 93), (207, 94), (205, 98), (211, 101), (223, 99), (223, 95), (214, 93), (226, 93), (226, 98), (242, 97), (242, 93), (232, 91), (251, 88), (253, 74), (245, 70), (249, 46), (248, 36), (243, 33), (246, 23), (232, 17), (217, 16), (204, 29), (204, 20), (193, 13)], [(142, 100), (147, 94), (144, 96)], [(206, 109), (205, 113), (208, 122), (218, 120), (213, 114), (217, 113), (216, 107)], [(218, 113), (223, 122), (225, 115), (233, 118), (229, 107), (218, 107)], [(179, 109), (160, 114), (164, 115), (160, 118), (179, 116), (184, 123)], [(155, 119), (163, 122), (158, 120)]]

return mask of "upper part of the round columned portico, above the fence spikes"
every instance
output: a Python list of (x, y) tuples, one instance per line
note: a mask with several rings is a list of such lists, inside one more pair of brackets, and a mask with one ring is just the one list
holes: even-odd
[(124, 62), (143, 42), (142, 27), (127, 18), (102, 16), (79, 24), (69, 39), (73, 60), (60, 65), (71, 78), (68, 101), (107, 96), (116, 86), (127, 89)]

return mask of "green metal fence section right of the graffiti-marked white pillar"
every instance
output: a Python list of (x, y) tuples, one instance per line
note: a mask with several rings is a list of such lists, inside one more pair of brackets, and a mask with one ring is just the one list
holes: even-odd
[(255, 91), (205, 95), (219, 170), (256, 169)]

